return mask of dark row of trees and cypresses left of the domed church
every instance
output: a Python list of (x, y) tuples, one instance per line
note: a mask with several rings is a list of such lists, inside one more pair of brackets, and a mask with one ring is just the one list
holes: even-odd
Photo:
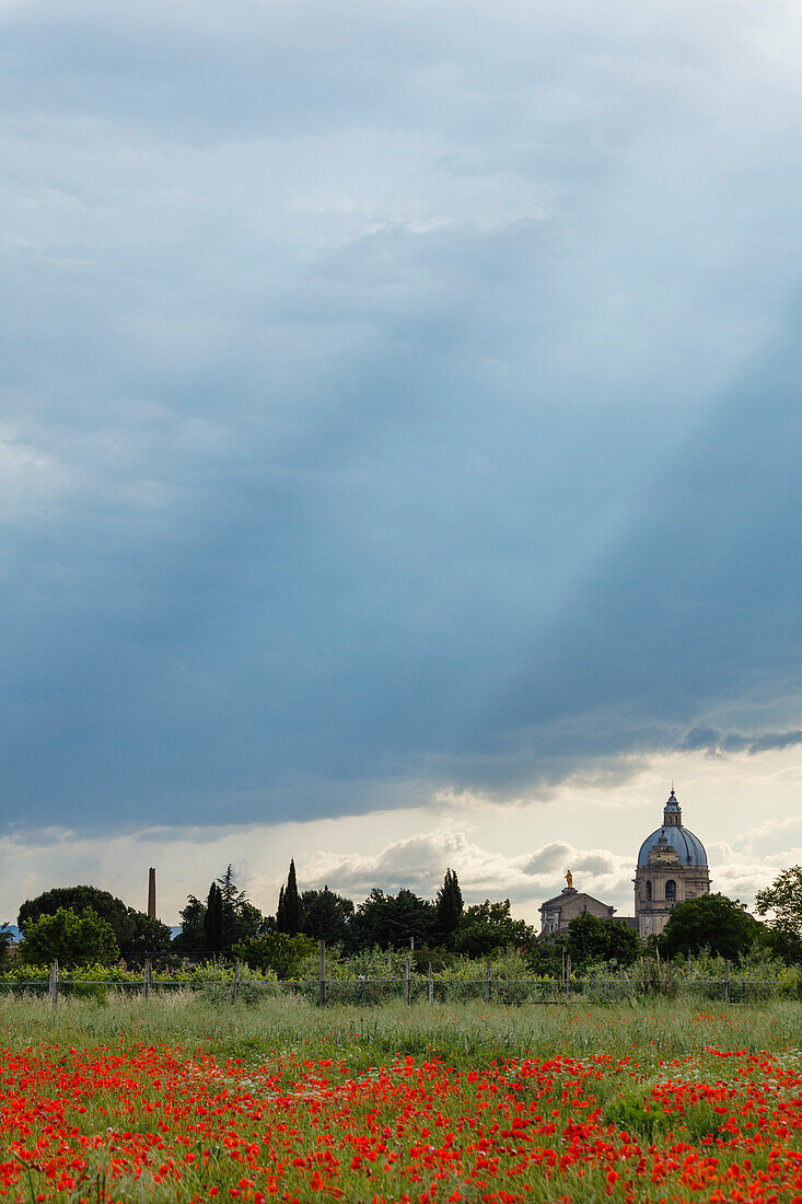
[[(535, 939), (535, 929), (512, 916), (509, 899), (465, 907), (456, 872), (448, 869), (435, 899), (402, 887), (379, 889), (356, 905), (328, 886), (299, 891), (295, 861), (278, 895), (276, 914), (264, 915), (236, 883), (232, 866), (214, 879), (205, 898), (189, 895), (179, 913), (181, 931), (126, 907), (96, 886), (54, 887), (26, 899), (18, 915), (18, 956), (42, 966), (58, 958), (65, 968), (79, 963), (112, 964), (122, 958), (177, 955), (184, 958), (241, 956), (249, 964), (277, 970), (294, 962), (312, 943), (325, 940), (348, 954), (379, 946), (417, 948), (442, 955), (489, 955)], [(0, 929), (0, 961), (11, 932)]]

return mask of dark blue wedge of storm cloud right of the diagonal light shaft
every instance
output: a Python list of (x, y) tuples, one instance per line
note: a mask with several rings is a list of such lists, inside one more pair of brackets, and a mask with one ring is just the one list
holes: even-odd
[(754, 754), (800, 742), (796, 730), (679, 731), (736, 704), (760, 716), (779, 698), (796, 712), (795, 361), (789, 349), (755, 366), (666, 462), (623, 538), (521, 657), (518, 686), (496, 709), (502, 724), (531, 724), (554, 756), (578, 745), (605, 754), (715, 744)]

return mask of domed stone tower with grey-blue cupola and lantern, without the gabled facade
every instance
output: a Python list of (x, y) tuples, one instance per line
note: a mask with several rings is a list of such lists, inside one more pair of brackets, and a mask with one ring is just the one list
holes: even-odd
[(676, 903), (710, 893), (704, 845), (683, 826), (673, 786), (664, 808), (662, 827), (641, 845), (633, 881), (641, 937), (662, 932)]

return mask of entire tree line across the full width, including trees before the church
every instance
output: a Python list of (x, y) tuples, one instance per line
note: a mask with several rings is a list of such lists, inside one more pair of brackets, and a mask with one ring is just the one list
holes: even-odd
[[(564, 932), (538, 936), (526, 921), (513, 917), (509, 899), (465, 907), (450, 868), (434, 899), (406, 887), (395, 895), (376, 887), (354, 904), (328, 886), (299, 891), (290, 861), (275, 915), (263, 915), (228, 866), (210, 884), (205, 899), (188, 897), (175, 938), (167, 925), (95, 886), (45, 891), (19, 909), (18, 956), (30, 966), (58, 958), (65, 969), (110, 966), (120, 957), (240, 957), (254, 969), (290, 978), (314, 944), (325, 940), (346, 956), (376, 948), (409, 949), (419, 967), (432, 964), (438, 970), (455, 957), (489, 957), (509, 949), (521, 955), (526, 973), (548, 975), (564, 972), (566, 957), (577, 969), (594, 962), (626, 967), (643, 952), (671, 958), (708, 950), (737, 963), (762, 949), (785, 964), (802, 964), (802, 867), (784, 870), (760, 891), (756, 911), (771, 911), (773, 919), (761, 923), (724, 895), (688, 899), (677, 904), (664, 933), (645, 946), (629, 925), (589, 914), (577, 916)], [(0, 963), (10, 939), (7, 926), (0, 928)]]

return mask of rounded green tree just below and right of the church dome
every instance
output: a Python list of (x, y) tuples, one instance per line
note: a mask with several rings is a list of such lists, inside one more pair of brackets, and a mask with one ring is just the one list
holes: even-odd
[(659, 948), (666, 957), (709, 949), (712, 954), (737, 962), (760, 939), (761, 927), (737, 899), (726, 895), (700, 895), (673, 908)]

